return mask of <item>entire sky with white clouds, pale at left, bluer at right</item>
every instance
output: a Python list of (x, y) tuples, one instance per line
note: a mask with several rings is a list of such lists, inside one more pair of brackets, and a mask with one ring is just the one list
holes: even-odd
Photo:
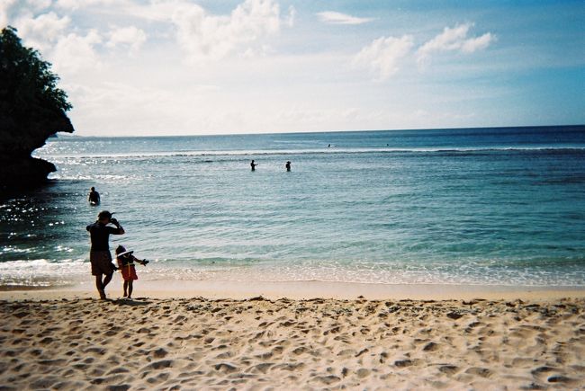
[(79, 136), (585, 124), (585, 2), (0, 0)]

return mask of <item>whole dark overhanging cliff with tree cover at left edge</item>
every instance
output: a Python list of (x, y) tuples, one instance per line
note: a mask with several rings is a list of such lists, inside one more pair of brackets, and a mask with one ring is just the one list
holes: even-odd
[(73, 132), (67, 93), (40, 53), (23, 47), (14, 27), (0, 33), (0, 188), (33, 185), (55, 166), (33, 159), (50, 135)]

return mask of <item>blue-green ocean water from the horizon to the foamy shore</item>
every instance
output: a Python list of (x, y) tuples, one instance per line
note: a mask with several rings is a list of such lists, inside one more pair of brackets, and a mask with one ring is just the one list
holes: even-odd
[(1, 287), (91, 281), (100, 209), (126, 229), (112, 250), (151, 261), (143, 280), (585, 286), (584, 126), (59, 137), (34, 155), (58, 172), (0, 197)]

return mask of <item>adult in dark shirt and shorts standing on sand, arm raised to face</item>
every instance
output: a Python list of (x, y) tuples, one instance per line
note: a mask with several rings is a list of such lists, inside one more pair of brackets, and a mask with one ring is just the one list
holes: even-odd
[[(116, 227), (108, 227), (108, 224)], [(89, 261), (92, 263), (92, 275), (95, 276), (95, 288), (100, 298), (105, 299), (105, 287), (112, 280), (112, 274), (116, 270), (112, 263), (112, 253), (110, 253), (110, 235), (123, 235), (124, 228), (118, 220), (112, 218), (112, 213), (102, 210), (97, 215), (97, 221), (85, 229), (89, 231), (92, 240)], [(102, 276), (104, 276), (103, 280)]]

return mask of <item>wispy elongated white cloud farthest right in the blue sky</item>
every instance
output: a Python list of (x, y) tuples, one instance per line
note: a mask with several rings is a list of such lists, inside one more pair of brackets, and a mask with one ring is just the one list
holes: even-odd
[(495, 40), (495, 36), (490, 32), (480, 37), (467, 38), (472, 26), (472, 23), (466, 23), (454, 28), (446, 27), (435, 38), (428, 40), (417, 50), (419, 65), (427, 62), (431, 54), (436, 52), (460, 50), (464, 53), (473, 53), (476, 50), (487, 48)]

